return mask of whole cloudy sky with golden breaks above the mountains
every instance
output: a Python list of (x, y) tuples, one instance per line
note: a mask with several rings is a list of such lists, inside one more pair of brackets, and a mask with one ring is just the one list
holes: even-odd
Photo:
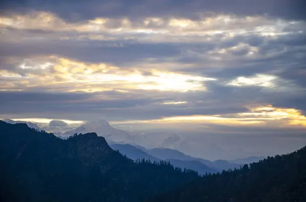
[(193, 155), (306, 144), (303, 1), (0, 4), (2, 119), (175, 132)]

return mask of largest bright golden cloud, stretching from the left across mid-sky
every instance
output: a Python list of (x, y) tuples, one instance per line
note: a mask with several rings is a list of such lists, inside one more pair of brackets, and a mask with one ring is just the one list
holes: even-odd
[[(205, 81), (216, 80), (201, 76), (141, 68), (118, 68), (105, 63), (91, 64), (57, 56), (16, 63), (21, 74), (2, 70), (2, 90), (20, 87), (52, 86), (62, 91), (96, 92), (106, 90), (205, 91)], [(13, 82), (12, 79), (14, 78)], [(7, 82), (6, 82), (7, 81)], [(18, 88), (19, 88), (18, 87)]]

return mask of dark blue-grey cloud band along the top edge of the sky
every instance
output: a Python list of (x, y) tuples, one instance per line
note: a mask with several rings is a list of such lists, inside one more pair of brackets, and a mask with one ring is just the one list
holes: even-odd
[(199, 18), (203, 14), (235, 14), (240, 16), (268, 15), (286, 19), (306, 19), (302, 0), (118, 0), (118, 1), (33, 1), (13, 0), (2, 3), (2, 12), (28, 12), (43, 10), (56, 13), (69, 21), (82, 21), (95, 17), (187, 17)]

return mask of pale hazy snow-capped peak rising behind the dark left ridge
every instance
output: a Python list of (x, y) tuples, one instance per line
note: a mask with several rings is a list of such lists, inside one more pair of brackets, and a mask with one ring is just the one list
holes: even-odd
[(64, 135), (73, 135), (75, 133), (85, 134), (95, 132), (98, 136), (105, 137), (111, 142), (133, 143), (133, 136), (120, 129), (113, 128), (107, 121), (99, 120), (81, 125), (77, 129), (69, 130)]

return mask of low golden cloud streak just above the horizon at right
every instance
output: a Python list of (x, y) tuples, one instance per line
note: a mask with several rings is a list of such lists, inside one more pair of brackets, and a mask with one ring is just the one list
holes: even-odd
[(165, 117), (157, 120), (131, 120), (114, 124), (217, 124), (224, 126), (306, 127), (306, 117), (294, 108), (277, 108), (272, 105), (250, 108), (249, 112), (223, 115), (193, 115)]

